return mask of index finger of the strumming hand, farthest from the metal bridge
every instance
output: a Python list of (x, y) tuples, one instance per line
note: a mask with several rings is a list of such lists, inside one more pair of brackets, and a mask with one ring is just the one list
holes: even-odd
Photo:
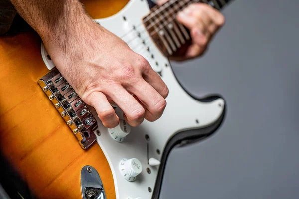
[[(150, 66), (149, 66), (150, 67)], [(143, 72), (143, 78), (148, 82), (163, 98), (168, 96), (169, 90), (164, 81), (160, 76), (152, 70), (150, 67), (149, 70)]]

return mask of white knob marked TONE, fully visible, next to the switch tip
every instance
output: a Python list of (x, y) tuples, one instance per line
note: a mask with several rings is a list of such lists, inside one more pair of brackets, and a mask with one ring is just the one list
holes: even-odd
[(142, 165), (137, 158), (120, 161), (120, 171), (127, 181), (135, 181), (136, 176), (142, 172)]

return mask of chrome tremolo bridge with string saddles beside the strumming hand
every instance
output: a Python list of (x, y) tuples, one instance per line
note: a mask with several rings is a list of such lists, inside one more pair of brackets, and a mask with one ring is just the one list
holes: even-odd
[(96, 135), (93, 132), (98, 127), (93, 116), (95, 110), (78, 97), (56, 68), (42, 77), (38, 84), (77, 137), (83, 149), (96, 141)]

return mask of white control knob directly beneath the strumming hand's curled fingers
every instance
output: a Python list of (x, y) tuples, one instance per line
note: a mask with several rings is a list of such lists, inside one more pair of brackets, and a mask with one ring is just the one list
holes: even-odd
[(110, 136), (117, 142), (123, 142), (130, 131), (131, 126), (122, 119), (120, 119), (120, 123), (117, 127), (108, 129)]

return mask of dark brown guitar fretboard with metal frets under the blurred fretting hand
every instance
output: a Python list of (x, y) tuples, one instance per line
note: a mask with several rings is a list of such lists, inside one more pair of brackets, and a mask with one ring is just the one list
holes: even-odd
[(161, 52), (167, 56), (176, 56), (190, 44), (190, 32), (176, 20), (176, 14), (191, 3), (207, 3), (221, 10), (231, 0), (169, 0), (161, 6), (151, 9), (143, 18), (143, 23)]

